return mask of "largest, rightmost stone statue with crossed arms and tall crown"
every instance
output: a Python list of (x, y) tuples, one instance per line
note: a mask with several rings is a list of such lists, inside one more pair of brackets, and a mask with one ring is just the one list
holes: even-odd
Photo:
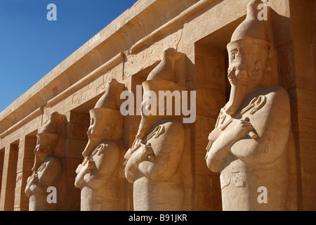
[(258, 4), (249, 2), (228, 44), (230, 99), (206, 147), (207, 166), (220, 172), (223, 210), (284, 210), (287, 193), (289, 96), (265, 86), (272, 45)]

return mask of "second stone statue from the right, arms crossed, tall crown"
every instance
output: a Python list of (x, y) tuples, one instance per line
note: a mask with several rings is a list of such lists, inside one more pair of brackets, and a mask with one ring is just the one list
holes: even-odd
[[(185, 139), (190, 140), (190, 137), (186, 138), (182, 120), (166, 113), (148, 113), (149, 108), (158, 112), (152, 94), (158, 96), (159, 91), (180, 90), (175, 82), (175, 62), (182, 56), (183, 53), (175, 49), (165, 49), (162, 61), (142, 84), (141, 121), (136, 139), (124, 157), (125, 176), (133, 184), (136, 211), (184, 209), (189, 191), (184, 185), (182, 165)], [(189, 178), (190, 173), (187, 173)]]

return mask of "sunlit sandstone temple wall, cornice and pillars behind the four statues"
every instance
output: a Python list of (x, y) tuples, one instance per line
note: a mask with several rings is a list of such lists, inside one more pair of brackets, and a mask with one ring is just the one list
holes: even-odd
[[(243, 177), (247, 177), (246, 172), (232, 172), (230, 179), (230, 172), (220, 177), (219, 172), (211, 172), (208, 169), (204, 157), (208, 133), (216, 125), (220, 108), (230, 100), (231, 88), (226, 72), (230, 64), (230, 52), (226, 46), (230, 43), (236, 27), (246, 18), (249, 1), (137, 1), (11, 103), (0, 113), (0, 210), (29, 210), (28, 198), (23, 192), (27, 186), (27, 177), (31, 176), (29, 169), (34, 164), (34, 140), (54, 111), (65, 115), (67, 120), (63, 141), (58, 143), (58, 148), (55, 149), (56, 157), (60, 158), (65, 169), (65, 174), (60, 178), (60, 188), (64, 192), (60, 193), (62, 198), (58, 203), (61, 210), (80, 210), (81, 189), (74, 186), (74, 181), (77, 176), (76, 169), (82, 162), (81, 153), (88, 141), (86, 132), (90, 124), (89, 110), (95, 107), (110, 79), (117, 79), (117, 82), (124, 84), (125, 89), (136, 96), (137, 85), (145, 82), (150, 72), (157, 68), (162, 61), (164, 49), (169, 47), (183, 54), (182, 64), (176, 63), (176, 76), (183, 79), (183, 90), (196, 91), (197, 101), (195, 122), (183, 126), (187, 148), (182, 154), (190, 157), (184, 160), (182, 173), (190, 177), (187, 181), (192, 184), (192, 187), (185, 184), (186, 191), (192, 190), (192, 198), (187, 200), (183, 207), (190, 210), (223, 210), (228, 203), (233, 204), (231, 201), (224, 201), (227, 204), (222, 205), (225, 195), (221, 195), (221, 191), (228, 190), (230, 186), (238, 186), (238, 190), (242, 190), (246, 184), (256, 184), (258, 180), (245, 181)], [(272, 65), (267, 70), (265, 87), (282, 86), (289, 95), (289, 191), (285, 209), (315, 210), (316, 3), (312, 0), (262, 2), (268, 6), (268, 36), (273, 46), (270, 57)], [(164, 84), (159, 88), (164, 89)], [(275, 96), (285, 95), (282, 88), (274, 90)], [(268, 101), (254, 115), (249, 115), (249, 119), (261, 136), (263, 132), (261, 133), (257, 126), (268, 122), (263, 112), (269, 111), (265, 108), (275, 96), (268, 94), (268, 91), (259, 96), (265, 96)], [(249, 99), (251, 100), (252, 98)], [(120, 101), (119, 96), (117, 101)], [(134, 101), (136, 113), (139, 112), (139, 106), (136, 104), (136, 98)], [(244, 103), (247, 105), (246, 101)], [(256, 124), (256, 117), (259, 115), (262, 116), (261, 122)], [(284, 113), (280, 121), (284, 121), (286, 116), (287, 113)], [(119, 146), (120, 149), (127, 150), (133, 146), (141, 119), (140, 115), (135, 114), (124, 116), (121, 129), (124, 147)], [(232, 127), (230, 124), (227, 129)], [(280, 129), (276, 130), (275, 132), (279, 132)], [(277, 135), (282, 137), (283, 133), (285, 131)], [(249, 146), (247, 141), (253, 140), (246, 137), (240, 143)], [(274, 142), (277, 146), (282, 143), (280, 139)], [(269, 148), (268, 152), (270, 149), (272, 148)], [(234, 154), (238, 155), (236, 152)], [(124, 170), (124, 160), (124, 154), (121, 154), (118, 162), (121, 171)], [(268, 162), (266, 164), (270, 165)], [(269, 169), (272, 170), (270, 167)], [(118, 174), (117, 177), (121, 193), (119, 209), (144, 209), (141, 196), (133, 198), (133, 184), (126, 182), (124, 173)], [(220, 187), (220, 178), (223, 178), (223, 189)], [(142, 179), (145, 179), (145, 176)], [(142, 182), (136, 184), (137, 188), (152, 185), (148, 183), (149, 179)], [(148, 193), (159, 193), (159, 185), (155, 184), (156, 189)], [(281, 187), (275, 184), (272, 190)], [(267, 188), (269, 191), (270, 188)], [(259, 194), (254, 193), (254, 198)], [(137, 203), (136, 207), (134, 201)], [(150, 207), (157, 202), (154, 198), (147, 201), (152, 204)], [(175, 204), (178, 204), (177, 200)], [(268, 208), (264, 204), (261, 206)]]

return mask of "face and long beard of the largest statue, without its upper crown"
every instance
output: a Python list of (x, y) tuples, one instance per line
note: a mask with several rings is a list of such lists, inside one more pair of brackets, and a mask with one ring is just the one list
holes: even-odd
[(247, 94), (263, 86), (265, 62), (270, 46), (258, 39), (242, 39), (228, 44), (230, 100), (225, 112), (234, 115)]

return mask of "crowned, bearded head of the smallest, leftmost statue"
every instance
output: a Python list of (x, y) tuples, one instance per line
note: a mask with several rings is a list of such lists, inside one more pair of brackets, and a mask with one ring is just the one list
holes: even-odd
[(57, 112), (51, 113), (48, 122), (44, 124), (37, 134), (37, 146), (34, 149), (35, 160), (32, 171), (36, 171), (41, 162), (53, 155), (59, 140), (59, 131), (63, 116)]

